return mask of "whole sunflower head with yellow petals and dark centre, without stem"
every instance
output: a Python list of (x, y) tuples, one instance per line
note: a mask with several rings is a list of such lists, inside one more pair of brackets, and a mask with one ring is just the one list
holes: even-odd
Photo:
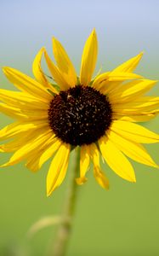
[[(0, 131), (1, 141), (7, 140), (1, 144), (1, 152), (14, 152), (3, 166), (26, 160), (26, 167), (37, 172), (53, 157), (47, 195), (63, 182), (71, 150), (77, 147), (80, 148), (78, 184), (87, 181), (92, 161), (97, 182), (109, 188), (100, 158), (130, 182), (135, 182), (135, 174), (128, 158), (158, 167), (142, 143), (158, 143), (159, 135), (137, 124), (154, 118), (159, 107), (159, 97), (144, 96), (156, 81), (133, 73), (142, 53), (92, 79), (98, 53), (95, 30), (84, 46), (79, 77), (55, 38), (53, 52), (56, 65), (46, 49), (40, 49), (33, 61), (35, 79), (3, 67), (6, 77), (20, 90), (0, 90), (1, 112), (16, 119)], [(43, 55), (51, 79), (43, 73)]]

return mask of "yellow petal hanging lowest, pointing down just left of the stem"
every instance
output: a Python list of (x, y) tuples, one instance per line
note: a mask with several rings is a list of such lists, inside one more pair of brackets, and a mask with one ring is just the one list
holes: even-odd
[(70, 150), (70, 145), (63, 143), (55, 154), (48, 170), (47, 195), (50, 195), (63, 182), (68, 166)]

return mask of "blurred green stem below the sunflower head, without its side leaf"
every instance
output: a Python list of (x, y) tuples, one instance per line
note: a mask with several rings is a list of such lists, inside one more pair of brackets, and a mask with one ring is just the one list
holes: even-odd
[[(75, 150), (74, 168), (70, 174), (70, 183), (65, 198), (64, 210), (62, 212), (63, 221), (59, 226), (57, 237), (54, 242), (54, 251), (52, 256), (65, 256), (68, 242), (71, 238), (72, 220), (75, 212), (75, 205), (77, 199), (77, 177), (79, 169), (80, 152), (79, 148)], [(74, 171), (74, 172), (73, 172)]]

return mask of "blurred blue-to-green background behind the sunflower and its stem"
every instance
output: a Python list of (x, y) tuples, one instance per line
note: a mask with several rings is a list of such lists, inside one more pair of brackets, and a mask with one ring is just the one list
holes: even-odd
[[(99, 38), (96, 72), (110, 70), (141, 50), (145, 51), (137, 72), (159, 79), (159, 1), (18, 1), (0, 0), (0, 65), (31, 74), (37, 51), (45, 46), (52, 55), (54, 36), (59, 38), (77, 70), (83, 44), (95, 27)], [(0, 73), (1, 88), (14, 90)], [(159, 84), (152, 90), (159, 95)], [(0, 126), (12, 120), (1, 114)], [(159, 132), (159, 118), (144, 124)], [(159, 145), (148, 147), (159, 164)], [(9, 159), (1, 154), (0, 162)], [(73, 155), (68, 172), (71, 172)], [(67, 256), (159, 255), (159, 170), (133, 162), (137, 183), (105, 172), (111, 189), (106, 192), (88, 173), (79, 187), (77, 211)], [(53, 247), (56, 227), (28, 238), (27, 231), (39, 218), (60, 212), (65, 182), (46, 197), (48, 163), (33, 174), (24, 163), (0, 171), (0, 255), (43, 256)]]

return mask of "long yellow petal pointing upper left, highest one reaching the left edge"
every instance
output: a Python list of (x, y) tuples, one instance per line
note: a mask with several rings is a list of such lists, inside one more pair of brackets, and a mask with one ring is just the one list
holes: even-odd
[(52, 96), (47, 92), (47, 89), (36, 80), (26, 76), (26, 74), (20, 73), (20, 71), (11, 67), (3, 67), (3, 73), (18, 89), (31, 96), (40, 98), (43, 102), (49, 102), (51, 100)]

